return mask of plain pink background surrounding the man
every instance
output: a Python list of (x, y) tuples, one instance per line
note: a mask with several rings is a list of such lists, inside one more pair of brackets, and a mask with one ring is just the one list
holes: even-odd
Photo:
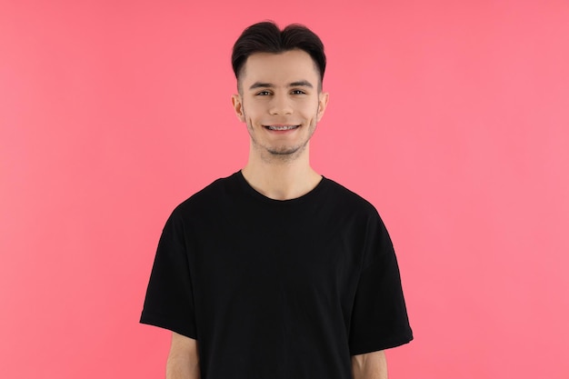
[(155, 245), (245, 164), (230, 51), (266, 18), (323, 38), (314, 167), (394, 239), (391, 377), (569, 377), (569, 3), (267, 3), (0, 3), (0, 377), (164, 376)]

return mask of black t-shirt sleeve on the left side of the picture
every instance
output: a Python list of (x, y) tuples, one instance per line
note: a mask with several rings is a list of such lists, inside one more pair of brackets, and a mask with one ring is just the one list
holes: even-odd
[(184, 223), (176, 211), (158, 243), (140, 322), (197, 338)]

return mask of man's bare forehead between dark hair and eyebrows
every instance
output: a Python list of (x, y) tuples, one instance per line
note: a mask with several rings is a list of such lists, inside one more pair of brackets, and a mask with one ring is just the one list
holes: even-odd
[(244, 82), (281, 82), (318, 80), (318, 69), (312, 57), (303, 50), (284, 53), (255, 53), (245, 61), (241, 80)]

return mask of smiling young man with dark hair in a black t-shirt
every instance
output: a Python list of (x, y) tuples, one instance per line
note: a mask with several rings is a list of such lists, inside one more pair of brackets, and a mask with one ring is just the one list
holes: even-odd
[(166, 377), (384, 379), (413, 336), (379, 215), (309, 163), (324, 46), (260, 23), (232, 58), (249, 159), (165, 224), (141, 322), (173, 331)]

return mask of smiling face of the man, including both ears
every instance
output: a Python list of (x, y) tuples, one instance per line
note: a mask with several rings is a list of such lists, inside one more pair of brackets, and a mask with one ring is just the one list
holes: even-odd
[(250, 55), (239, 81), (232, 101), (247, 125), (251, 154), (265, 161), (303, 155), (328, 101), (311, 56), (302, 50)]

